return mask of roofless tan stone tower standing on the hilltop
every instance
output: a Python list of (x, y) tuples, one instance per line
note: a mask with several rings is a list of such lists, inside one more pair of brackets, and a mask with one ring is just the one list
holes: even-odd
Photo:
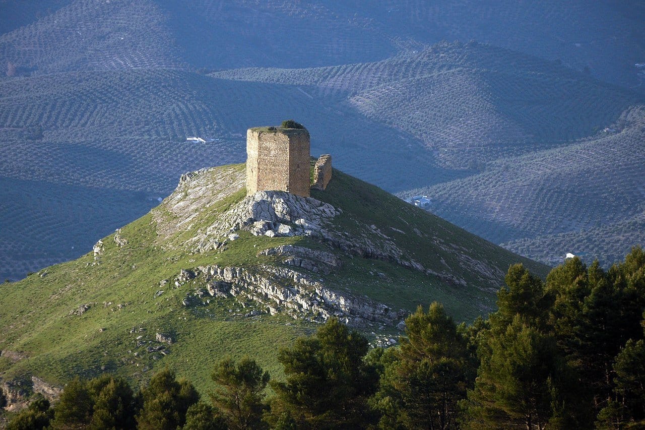
[(257, 127), (246, 132), (246, 193), (279, 190), (309, 197), (309, 132)]

